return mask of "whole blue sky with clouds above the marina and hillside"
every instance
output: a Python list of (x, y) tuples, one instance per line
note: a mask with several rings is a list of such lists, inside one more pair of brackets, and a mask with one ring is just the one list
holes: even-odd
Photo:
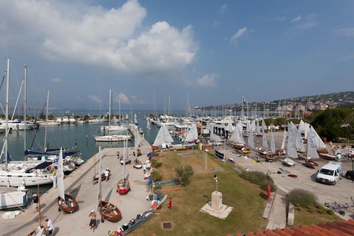
[[(354, 90), (354, 1), (0, 0), (10, 106), (185, 110)], [(6, 86), (0, 89), (4, 106)], [(20, 95), (18, 95), (20, 94)], [(21, 105), (17, 105), (18, 107)]]

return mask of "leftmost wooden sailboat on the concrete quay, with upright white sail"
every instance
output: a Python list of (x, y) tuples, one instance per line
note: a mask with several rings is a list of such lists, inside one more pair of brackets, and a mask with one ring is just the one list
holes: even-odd
[(62, 210), (66, 213), (73, 213), (79, 207), (76, 203), (75, 198), (69, 194), (64, 193), (64, 172), (63, 172), (63, 152), (60, 149), (59, 152), (59, 161), (57, 169), (57, 189), (58, 189), (58, 198), (57, 203), (59, 206), (59, 211)]

